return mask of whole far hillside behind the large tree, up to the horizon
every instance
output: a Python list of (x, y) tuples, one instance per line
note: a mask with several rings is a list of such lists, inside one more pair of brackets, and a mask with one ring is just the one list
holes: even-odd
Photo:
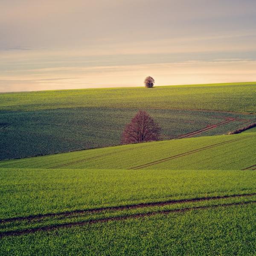
[(255, 97), (256, 83), (2, 93), (0, 160), (119, 145), (140, 108), (164, 140), (227, 134), (256, 121)]

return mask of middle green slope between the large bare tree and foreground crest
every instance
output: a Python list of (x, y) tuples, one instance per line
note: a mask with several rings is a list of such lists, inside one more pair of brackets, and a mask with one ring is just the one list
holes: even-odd
[(1, 161), (0, 167), (241, 170), (256, 163), (255, 144), (256, 133), (184, 138)]

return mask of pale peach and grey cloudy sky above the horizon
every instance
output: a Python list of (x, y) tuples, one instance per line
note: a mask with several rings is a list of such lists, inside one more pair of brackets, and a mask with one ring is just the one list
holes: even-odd
[(0, 92), (256, 81), (256, 0), (0, 0)]

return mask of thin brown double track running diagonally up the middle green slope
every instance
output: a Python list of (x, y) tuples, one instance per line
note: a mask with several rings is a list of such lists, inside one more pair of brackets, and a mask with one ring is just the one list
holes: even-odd
[(160, 159), (160, 160), (157, 160), (157, 161), (153, 161), (153, 162), (150, 162), (150, 163), (145, 163), (145, 164), (140, 165), (140, 166), (134, 166), (134, 167), (128, 168), (128, 170), (142, 169), (144, 167), (152, 166), (152, 165), (155, 165), (155, 164), (158, 164), (158, 163), (163, 163), (163, 162), (166, 162), (166, 161), (178, 158), (178, 157), (183, 157), (183, 156), (187, 156), (189, 154), (197, 153), (197, 152), (206, 150), (208, 148), (214, 148), (214, 147), (217, 147), (218, 145), (224, 145), (224, 144), (228, 144), (228, 143), (231, 143), (231, 142), (244, 140), (244, 139), (247, 139), (247, 138), (250, 138), (250, 137), (256, 137), (256, 135), (250, 135), (250, 136), (242, 137), (242, 138), (239, 138), (239, 139), (228, 140), (228, 141), (224, 141), (224, 142), (221, 142), (221, 143), (212, 144), (212, 145), (209, 145), (209, 146), (205, 146), (203, 148), (198, 148), (198, 149), (195, 149), (195, 150), (192, 150), (192, 151), (177, 154), (177, 155), (172, 156), (172, 157), (166, 157), (166, 158), (163, 158), (163, 159)]

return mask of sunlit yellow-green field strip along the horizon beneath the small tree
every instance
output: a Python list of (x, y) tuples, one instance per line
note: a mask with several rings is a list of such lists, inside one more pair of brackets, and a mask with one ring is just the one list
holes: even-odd
[(256, 82), (0, 94), (0, 110), (179, 108), (256, 113)]

